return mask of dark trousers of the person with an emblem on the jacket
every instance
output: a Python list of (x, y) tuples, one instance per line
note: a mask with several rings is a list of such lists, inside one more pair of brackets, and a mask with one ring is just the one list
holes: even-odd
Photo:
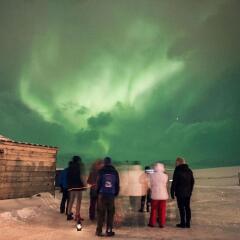
[(105, 215), (107, 215), (107, 231), (112, 231), (115, 213), (114, 197), (99, 195), (97, 202), (97, 233), (102, 232)]

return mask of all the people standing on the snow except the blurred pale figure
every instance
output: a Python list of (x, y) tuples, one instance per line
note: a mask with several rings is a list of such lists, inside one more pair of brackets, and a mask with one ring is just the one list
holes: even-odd
[[(81, 222), (84, 219), (80, 214), (82, 191), (90, 188), (89, 219), (95, 220), (97, 212), (96, 235), (104, 236), (102, 229), (106, 217), (106, 235), (114, 236), (113, 222), (115, 214), (115, 197), (120, 192), (120, 178), (118, 171), (112, 164), (110, 157), (97, 160), (84, 180), (85, 167), (79, 156), (74, 156), (69, 166), (60, 175), (62, 201), (60, 212), (67, 214), (67, 220)], [(146, 194), (141, 197), (139, 212), (150, 211), (149, 227), (159, 224), (163, 228), (166, 224), (166, 206), (168, 195), (168, 175), (162, 163), (156, 163), (151, 169), (145, 167), (145, 179), (148, 182)], [(190, 228), (191, 208), (190, 199), (194, 186), (194, 177), (191, 169), (183, 158), (176, 159), (176, 168), (173, 173), (170, 195), (177, 198), (180, 213), (179, 228)], [(75, 217), (72, 213), (73, 203), (76, 203)], [(130, 199), (131, 200), (131, 199)], [(130, 201), (131, 202), (131, 201)], [(97, 208), (97, 211), (96, 211)]]

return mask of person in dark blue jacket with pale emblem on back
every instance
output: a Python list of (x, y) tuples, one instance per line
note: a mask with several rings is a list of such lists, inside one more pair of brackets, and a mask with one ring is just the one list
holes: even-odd
[(106, 235), (109, 237), (115, 235), (115, 233), (112, 231), (115, 213), (114, 198), (119, 194), (119, 189), (118, 172), (112, 166), (111, 158), (106, 157), (104, 159), (104, 167), (99, 171), (97, 178), (97, 236), (103, 236), (102, 227), (106, 214)]

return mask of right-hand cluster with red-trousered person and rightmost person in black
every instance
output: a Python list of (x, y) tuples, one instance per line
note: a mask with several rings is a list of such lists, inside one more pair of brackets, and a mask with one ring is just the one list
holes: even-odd
[[(143, 212), (145, 202), (146, 210), (151, 213), (149, 219), (149, 227), (155, 227), (159, 224), (163, 228), (166, 224), (166, 206), (168, 195), (168, 175), (162, 163), (156, 163), (153, 171), (149, 167), (145, 167), (145, 174), (148, 175), (149, 189), (145, 196), (141, 198), (141, 207), (139, 212)], [(177, 198), (180, 223), (176, 225), (179, 228), (191, 227), (191, 208), (190, 199), (194, 186), (194, 177), (192, 170), (188, 167), (183, 158), (176, 159), (176, 168), (173, 173), (170, 195), (172, 199)]]

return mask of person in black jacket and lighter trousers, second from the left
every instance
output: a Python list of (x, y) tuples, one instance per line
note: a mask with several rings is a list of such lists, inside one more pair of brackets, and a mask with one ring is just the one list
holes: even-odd
[(67, 220), (73, 219), (72, 207), (75, 199), (77, 199), (75, 219), (77, 221), (83, 220), (80, 216), (82, 191), (84, 190), (84, 186), (85, 186), (83, 181), (83, 172), (84, 172), (84, 165), (81, 161), (81, 158), (79, 156), (74, 156), (72, 158), (72, 164), (69, 167), (68, 173), (67, 173), (67, 184), (68, 184), (68, 191), (69, 191)]

